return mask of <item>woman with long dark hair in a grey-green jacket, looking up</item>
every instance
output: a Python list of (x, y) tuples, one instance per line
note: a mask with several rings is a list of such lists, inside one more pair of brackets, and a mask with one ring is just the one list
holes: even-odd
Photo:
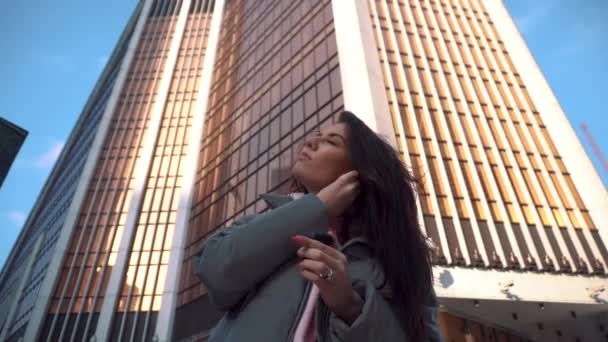
[[(308, 138), (301, 194), (206, 240), (194, 260), (226, 314), (210, 341), (440, 341), (414, 179), (350, 112)], [(307, 236), (330, 231), (333, 244)]]

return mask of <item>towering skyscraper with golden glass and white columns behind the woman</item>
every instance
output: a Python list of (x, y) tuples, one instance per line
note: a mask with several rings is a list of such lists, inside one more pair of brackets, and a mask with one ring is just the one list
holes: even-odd
[(344, 109), (423, 181), (446, 340), (606, 334), (608, 195), (500, 0), (142, 0), (4, 265), (0, 340), (206, 340), (196, 247)]

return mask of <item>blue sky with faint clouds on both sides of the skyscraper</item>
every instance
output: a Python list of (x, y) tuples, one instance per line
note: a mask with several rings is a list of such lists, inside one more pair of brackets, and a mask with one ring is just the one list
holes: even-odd
[[(579, 136), (587, 123), (608, 155), (608, 1), (504, 2)], [(0, 116), (30, 134), (0, 189), (0, 265), (136, 3), (4, 4)], [(608, 174), (590, 157), (608, 184)]]

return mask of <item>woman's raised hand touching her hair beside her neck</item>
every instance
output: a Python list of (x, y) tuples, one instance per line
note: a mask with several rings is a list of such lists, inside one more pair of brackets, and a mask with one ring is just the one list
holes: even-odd
[(348, 209), (359, 195), (359, 173), (347, 172), (323, 188), (317, 197), (327, 206), (329, 217), (338, 217)]

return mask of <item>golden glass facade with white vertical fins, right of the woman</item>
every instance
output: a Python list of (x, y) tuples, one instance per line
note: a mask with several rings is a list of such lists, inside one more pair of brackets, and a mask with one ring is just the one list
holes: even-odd
[(435, 263), (604, 273), (596, 226), (482, 2), (368, 4)]

